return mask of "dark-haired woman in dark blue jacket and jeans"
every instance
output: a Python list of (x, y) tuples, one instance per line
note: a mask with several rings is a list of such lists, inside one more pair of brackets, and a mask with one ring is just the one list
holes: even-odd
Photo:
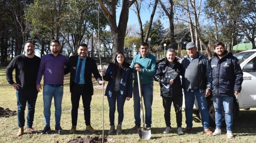
[(114, 119), (116, 101), (118, 112), (116, 133), (122, 133), (125, 99), (129, 101), (132, 97), (132, 71), (129, 66), (130, 64), (125, 62), (124, 53), (118, 51), (115, 55), (115, 62), (109, 64), (105, 73), (101, 73), (103, 79), (109, 82), (105, 92), (105, 96), (108, 97), (109, 102), (109, 120), (111, 126), (108, 132), (109, 134), (115, 132)]

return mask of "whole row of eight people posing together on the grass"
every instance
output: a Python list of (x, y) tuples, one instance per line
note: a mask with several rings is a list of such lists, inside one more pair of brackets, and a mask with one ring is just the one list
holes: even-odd
[[(165, 109), (164, 117), (166, 129), (163, 133), (171, 131), (170, 110), (173, 103), (177, 133), (184, 134), (193, 130), (193, 106), (197, 99), (200, 115), (202, 119), (203, 131), (207, 134), (221, 134), (222, 126), (222, 106), (225, 110), (227, 125), (227, 137), (232, 138), (232, 105), (234, 95), (241, 91), (243, 73), (237, 58), (225, 50), (225, 45), (217, 42), (214, 45), (214, 57), (209, 61), (207, 57), (197, 52), (197, 47), (193, 42), (186, 45), (187, 55), (181, 60), (176, 59), (174, 49), (168, 49), (166, 58), (159, 62), (154, 55), (148, 52), (147, 43), (141, 43), (140, 54), (136, 55), (131, 65), (125, 61), (122, 51), (115, 54), (113, 63), (110, 63), (106, 72), (99, 73), (96, 61), (87, 57), (88, 49), (86, 44), (80, 44), (78, 55), (71, 56), (68, 60), (65, 55), (59, 53), (59, 41), (51, 41), (51, 52), (41, 59), (34, 55), (34, 44), (28, 41), (25, 44), (25, 54), (16, 56), (6, 67), (6, 78), (16, 90), (17, 96), (17, 116), (19, 131), (17, 136), (24, 133), (25, 118), (24, 112), (26, 103), (28, 104), (27, 131), (37, 132), (32, 128), (35, 102), (37, 94), (42, 90), (40, 81), (44, 75), (43, 101), (44, 101), (44, 121), (45, 127), (41, 134), (47, 133), (50, 128), (51, 103), (54, 98), (55, 105), (55, 130), (62, 133), (60, 127), (61, 102), (63, 96), (64, 75), (70, 73), (71, 92), (71, 117), (72, 127), (69, 133), (76, 131), (77, 112), (79, 100), (82, 96), (84, 107), (84, 119), (86, 130), (97, 132), (90, 125), (90, 102), (93, 95), (93, 83), (91, 75), (100, 85), (104, 86), (104, 81), (108, 81), (105, 96), (109, 102), (110, 130), (109, 134), (122, 133), (122, 122), (124, 119), (124, 104), (130, 100), (133, 94), (133, 109), (135, 125), (132, 130), (141, 128), (140, 118), (140, 97), (137, 72), (140, 72), (141, 92), (145, 106), (146, 129), (151, 129), (152, 124), (152, 103), (153, 103), (153, 82), (160, 84), (160, 95)], [(12, 72), (15, 69), (16, 83), (13, 81)], [(134, 73), (134, 82), (132, 80)], [(101, 76), (103, 79), (101, 79)], [(180, 79), (182, 76), (182, 81)], [(185, 116), (186, 128), (182, 129), (182, 103), (183, 94), (185, 96)], [(214, 133), (209, 127), (209, 115), (207, 109), (207, 97), (212, 94), (216, 129)], [(115, 130), (114, 115), (117, 105), (118, 123)]]

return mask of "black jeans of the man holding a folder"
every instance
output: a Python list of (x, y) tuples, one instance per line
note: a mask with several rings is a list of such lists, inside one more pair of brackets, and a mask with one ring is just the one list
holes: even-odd
[(177, 128), (181, 127), (182, 125), (182, 96), (176, 96), (176, 97), (167, 97), (162, 96), (163, 99), (163, 108), (165, 108), (165, 124), (167, 127), (171, 127), (171, 105), (173, 102), (173, 106), (176, 113), (176, 123)]

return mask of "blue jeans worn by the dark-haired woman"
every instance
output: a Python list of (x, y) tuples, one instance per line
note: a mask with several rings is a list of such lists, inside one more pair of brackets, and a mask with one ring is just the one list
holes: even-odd
[(118, 125), (122, 125), (124, 120), (124, 105), (125, 96), (122, 96), (120, 91), (113, 91), (112, 96), (107, 96), (109, 101), (109, 121), (110, 126), (115, 125), (115, 111), (116, 111), (116, 101), (117, 101), (117, 112), (118, 112)]

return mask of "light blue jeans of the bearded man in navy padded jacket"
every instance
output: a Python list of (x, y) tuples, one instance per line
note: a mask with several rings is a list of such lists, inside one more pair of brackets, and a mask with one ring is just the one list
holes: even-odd
[(224, 107), (226, 128), (227, 131), (231, 131), (233, 125), (233, 97), (214, 95), (212, 100), (215, 109), (216, 128), (220, 129), (222, 126), (222, 107)]

